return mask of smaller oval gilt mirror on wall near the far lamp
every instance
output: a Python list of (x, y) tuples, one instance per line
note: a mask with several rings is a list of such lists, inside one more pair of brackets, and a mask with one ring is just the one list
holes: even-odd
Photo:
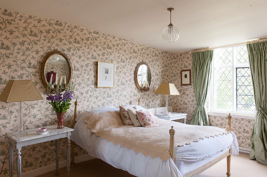
[(134, 81), (136, 87), (141, 91), (149, 91), (151, 83), (151, 71), (145, 62), (139, 63), (135, 68)]

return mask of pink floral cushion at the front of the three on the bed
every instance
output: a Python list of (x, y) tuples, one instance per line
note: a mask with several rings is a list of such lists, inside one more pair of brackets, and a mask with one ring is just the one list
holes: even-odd
[(143, 127), (158, 127), (159, 125), (156, 124), (154, 117), (156, 117), (154, 114), (152, 114), (149, 111), (135, 111), (136, 115), (138, 117), (138, 120), (140, 124)]

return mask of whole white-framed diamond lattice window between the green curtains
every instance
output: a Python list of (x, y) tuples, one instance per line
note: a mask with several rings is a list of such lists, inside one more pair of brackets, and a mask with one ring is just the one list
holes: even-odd
[(214, 49), (213, 61), (209, 109), (255, 113), (246, 46)]

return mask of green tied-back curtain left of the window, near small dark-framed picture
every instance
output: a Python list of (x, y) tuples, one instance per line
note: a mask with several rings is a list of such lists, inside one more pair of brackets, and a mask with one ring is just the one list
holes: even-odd
[(189, 123), (191, 125), (209, 125), (206, 104), (210, 87), (213, 51), (214, 50), (206, 50), (192, 53), (193, 83), (197, 107)]

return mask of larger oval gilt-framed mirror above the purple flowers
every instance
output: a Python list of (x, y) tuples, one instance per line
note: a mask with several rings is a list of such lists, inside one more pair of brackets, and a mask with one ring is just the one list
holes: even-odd
[(64, 91), (64, 84), (70, 83), (72, 78), (72, 66), (69, 58), (58, 50), (50, 52), (42, 64), (42, 80), (45, 87), (50, 83), (52, 91), (56, 91), (56, 86), (62, 86)]

